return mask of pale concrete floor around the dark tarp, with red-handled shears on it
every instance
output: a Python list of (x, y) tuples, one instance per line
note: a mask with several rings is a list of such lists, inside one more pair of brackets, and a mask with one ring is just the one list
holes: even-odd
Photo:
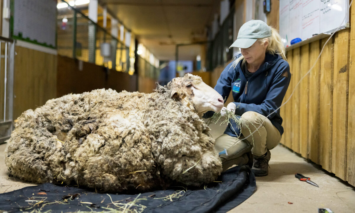
[[(210, 127), (214, 138), (224, 131), (223, 126), (212, 124)], [(8, 176), (3, 160), (5, 147), (6, 144), (0, 145), (0, 193), (35, 185)], [(330, 208), (336, 213), (355, 213), (355, 187), (308, 163), (289, 149), (279, 145), (271, 150), (269, 165), (269, 175), (256, 178), (257, 191), (230, 213), (317, 213), (318, 208)], [(320, 187), (299, 181), (295, 173), (310, 177)]]

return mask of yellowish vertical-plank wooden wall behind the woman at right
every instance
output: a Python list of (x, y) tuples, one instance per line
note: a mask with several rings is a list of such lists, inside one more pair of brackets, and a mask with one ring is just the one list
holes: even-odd
[[(274, 10), (268, 15), (269, 25), (278, 28), (278, 14)], [(350, 25), (355, 26), (355, 7), (350, 17)], [(355, 65), (351, 62), (355, 59), (355, 28), (327, 40), (287, 53), (292, 77), (284, 102), (324, 47), (311, 72), (281, 108), (285, 129), (281, 143), (355, 186)]]

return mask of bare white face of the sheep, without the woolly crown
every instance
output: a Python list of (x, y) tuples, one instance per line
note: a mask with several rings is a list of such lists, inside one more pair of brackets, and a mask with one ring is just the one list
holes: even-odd
[(190, 88), (193, 92), (191, 99), (196, 105), (198, 114), (211, 110), (218, 113), (222, 110), (224, 104), (222, 96), (203, 81), (189, 83), (186, 87)]

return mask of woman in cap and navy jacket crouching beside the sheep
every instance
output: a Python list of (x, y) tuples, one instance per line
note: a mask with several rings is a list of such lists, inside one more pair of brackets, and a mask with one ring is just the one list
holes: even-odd
[(285, 48), (277, 31), (261, 20), (243, 24), (231, 47), (240, 48), (241, 55), (226, 66), (214, 89), (225, 99), (232, 90), (234, 102), (221, 113), (233, 111), (241, 115), (243, 124), (241, 129), (234, 122), (229, 124), (216, 139), (215, 149), (227, 151), (228, 155), (220, 155), (224, 170), (250, 162), (252, 155), (248, 152), (251, 151), (252, 171), (256, 176), (266, 176), (269, 150), (277, 146), (283, 133), (280, 111), (272, 112), (282, 104), (290, 83)]

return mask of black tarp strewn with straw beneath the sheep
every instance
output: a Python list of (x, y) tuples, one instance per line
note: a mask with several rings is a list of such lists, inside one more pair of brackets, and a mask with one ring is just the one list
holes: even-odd
[[(219, 182), (220, 181), (220, 182)], [(184, 190), (184, 191), (181, 191)], [(222, 173), (217, 182), (199, 188), (173, 187), (142, 193), (135, 205), (126, 206), (144, 213), (227, 212), (250, 197), (256, 190), (255, 176), (247, 166), (236, 166)], [(173, 193), (179, 196), (169, 199)], [(17, 212), (110, 212), (129, 203), (138, 195), (96, 193), (87, 189), (45, 183), (0, 194), (0, 209)], [(167, 197), (164, 199), (164, 197)], [(140, 198), (144, 198), (139, 200)], [(111, 201), (112, 199), (112, 201)], [(117, 206), (112, 204), (114, 202)], [(109, 208), (109, 209), (107, 209)], [(0, 211), (1, 212), (1, 211)]]

